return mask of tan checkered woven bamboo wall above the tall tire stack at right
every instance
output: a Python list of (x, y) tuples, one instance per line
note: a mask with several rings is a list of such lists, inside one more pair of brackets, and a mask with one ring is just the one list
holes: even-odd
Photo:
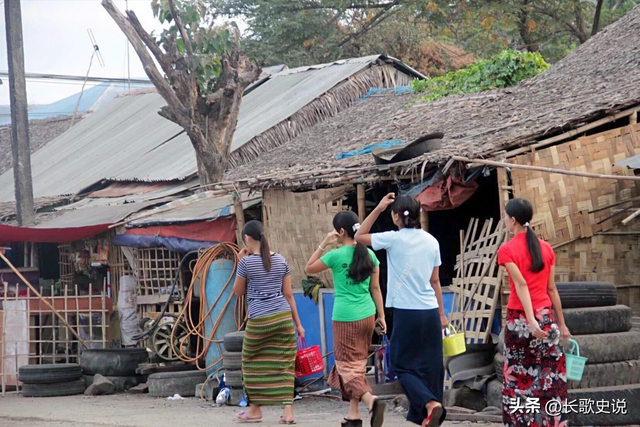
[[(640, 154), (640, 124), (625, 126), (524, 154), (514, 163), (602, 174), (632, 171), (613, 164)], [(627, 216), (607, 219), (613, 211), (589, 211), (640, 195), (634, 181), (593, 179), (514, 169), (515, 197), (534, 205), (534, 230), (556, 248), (557, 281), (607, 281), (620, 286), (620, 302), (640, 313), (640, 237), (598, 233), (640, 229), (623, 227)], [(604, 221), (603, 221), (604, 220)], [(601, 222), (601, 224), (598, 224)]]

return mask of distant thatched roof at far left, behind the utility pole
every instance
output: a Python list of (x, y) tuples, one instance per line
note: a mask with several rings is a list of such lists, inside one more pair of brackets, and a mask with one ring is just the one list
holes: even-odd
[[(78, 124), (81, 117), (76, 117), (74, 125)], [(47, 145), (59, 135), (66, 132), (71, 126), (71, 117), (59, 116), (50, 119), (29, 121), (29, 143), (31, 153)], [(0, 175), (13, 167), (13, 154), (11, 153), (11, 125), (0, 126)]]

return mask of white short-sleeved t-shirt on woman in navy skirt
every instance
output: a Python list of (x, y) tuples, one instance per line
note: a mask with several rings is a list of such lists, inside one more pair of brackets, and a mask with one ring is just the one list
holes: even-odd
[(440, 245), (424, 230), (403, 228), (371, 235), (374, 250), (387, 251), (387, 307), (407, 310), (438, 308), (431, 287), (433, 269), (440, 267)]

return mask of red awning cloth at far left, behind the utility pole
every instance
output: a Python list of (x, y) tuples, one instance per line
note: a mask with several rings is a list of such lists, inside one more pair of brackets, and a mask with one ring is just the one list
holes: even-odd
[(111, 224), (94, 224), (69, 228), (30, 228), (0, 225), (0, 244), (13, 242), (66, 243), (82, 240), (107, 231)]

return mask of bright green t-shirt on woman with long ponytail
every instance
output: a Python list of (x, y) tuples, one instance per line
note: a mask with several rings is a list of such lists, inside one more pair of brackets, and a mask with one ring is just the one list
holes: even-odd
[[(371, 279), (357, 283), (348, 277), (354, 250), (353, 246), (343, 246), (320, 258), (333, 273), (335, 300), (331, 318), (336, 322), (355, 322), (376, 314), (376, 305), (369, 291)], [(380, 261), (371, 249), (369, 254), (374, 265), (379, 266)]]

